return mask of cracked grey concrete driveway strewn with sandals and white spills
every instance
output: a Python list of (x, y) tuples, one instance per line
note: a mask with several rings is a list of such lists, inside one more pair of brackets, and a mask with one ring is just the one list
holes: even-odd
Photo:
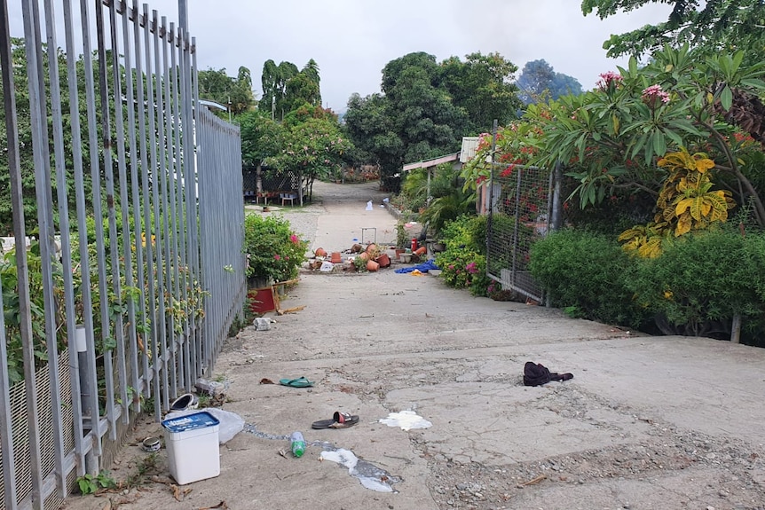
[[(374, 187), (319, 184), (317, 193), (315, 205), (281, 211), (313, 247), (350, 247), (362, 227), (395, 239)], [(113, 475), (125, 481), (141, 468), (144, 484), (65, 507), (765, 508), (763, 349), (646, 336), (392, 269), (306, 272), (283, 302), (296, 306), (305, 308), (269, 314), (270, 331), (243, 330), (218, 360), (215, 375), (230, 384), (223, 408), (248, 424), (221, 446), (220, 476), (182, 488), (192, 490), (177, 501), (161, 483), (165, 451), (147, 469), (148, 454), (129, 444)], [(574, 379), (526, 388), (526, 361)], [(313, 388), (260, 383), (300, 376)], [(359, 424), (311, 429), (335, 411)], [(400, 412), (431, 425), (380, 421)], [(310, 443), (300, 459), (280, 455), (294, 430)], [(159, 433), (146, 421), (134, 441)], [(333, 461), (341, 457), (359, 464)]]

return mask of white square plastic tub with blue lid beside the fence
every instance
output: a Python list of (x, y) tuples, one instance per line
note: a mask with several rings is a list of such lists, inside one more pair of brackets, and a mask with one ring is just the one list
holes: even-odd
[(162, 421), (170, 475), (180, 485), (220, 475), (218, 427), (209, 412), (194, 412)]

